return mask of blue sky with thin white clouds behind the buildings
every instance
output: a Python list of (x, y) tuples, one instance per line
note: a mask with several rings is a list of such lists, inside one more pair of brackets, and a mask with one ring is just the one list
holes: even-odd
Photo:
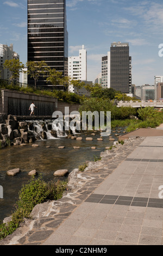
[[(45, 1), (46, 2), (46, 1)], [(0, 0), (0, 44), (14, 45), (27, 62), (27, 0)], [(128, 42), (132, 83), (163, 76), (162, 0), (67, 0), (68, 56), (87, 51), (87, 81), (95, 82), (112, 42)], [(161, 51), (161, 47), (162, 51)]]

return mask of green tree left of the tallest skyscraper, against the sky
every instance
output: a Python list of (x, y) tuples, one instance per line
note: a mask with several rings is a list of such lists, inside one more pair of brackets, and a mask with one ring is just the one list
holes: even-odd
[(23, 72), (24, 64), (19, 59), (6, 59), (3, 64), (4, 69), (9, 69), (12, 82), (16, 81), (20, 77), (20, 72)]

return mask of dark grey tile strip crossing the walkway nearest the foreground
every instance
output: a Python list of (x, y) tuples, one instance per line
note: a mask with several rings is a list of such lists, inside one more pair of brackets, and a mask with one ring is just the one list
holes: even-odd
[(90, 197), (85, 200), (85, 202), (163, 208), (162, 199), (147, 197), (127, 197), (116, 195), (91, 194)]

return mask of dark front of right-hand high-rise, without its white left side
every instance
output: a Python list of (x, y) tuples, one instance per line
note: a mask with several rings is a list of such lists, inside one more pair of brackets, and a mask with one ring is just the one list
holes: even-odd
[(110, 87), (122, 93), (131, 93), (131, 57), (128, 43), (111, 44)]

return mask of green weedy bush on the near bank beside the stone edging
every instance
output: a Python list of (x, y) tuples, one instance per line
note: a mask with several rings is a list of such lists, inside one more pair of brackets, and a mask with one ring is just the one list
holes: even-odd
[(12, 234), (24, 218), (30, 218), (30, 213), (37, 204), (46, 202), (47, 200), (58, 200), (66, 190), (67, 181), (50, 181), (45, 182), (42, 176), (39, 178), (34, 176), (30, 181), (23, 185), (18, 193), (18, 201), (11, 221), (0, 225), (0, 240)]

